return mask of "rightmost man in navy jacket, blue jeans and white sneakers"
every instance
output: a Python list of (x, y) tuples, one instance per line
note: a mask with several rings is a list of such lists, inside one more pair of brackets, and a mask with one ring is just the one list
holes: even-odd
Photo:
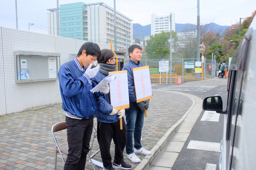
[[(129, 101), (130, 108), (125, 111), (126, 116), (126, 127), (127, 127), (127, 143), (126, 143), (126, 153), (128, 159), (134, 163), (138, 163), (141, 160), (134, 154), (139, 153), (142, 155), (150, 155), (151, 151), (144, 149), (141, 146), (141, 131), (143, 127), (145, 108), (148, 108), (149, 100), (137, 103), (135, 86), (134, 86), (134, 77), (133, 77), (133, 68), (143, 67), (143, 64), (140, 64), (142, 48), (140, 45), (131, 45), (128, 48), (130, 60), (122, 68), (127, 70), (128, 75), (128, 87), (129, 87)], [(132, 143), (132, 136), (134, 134), (134, 150)]]

